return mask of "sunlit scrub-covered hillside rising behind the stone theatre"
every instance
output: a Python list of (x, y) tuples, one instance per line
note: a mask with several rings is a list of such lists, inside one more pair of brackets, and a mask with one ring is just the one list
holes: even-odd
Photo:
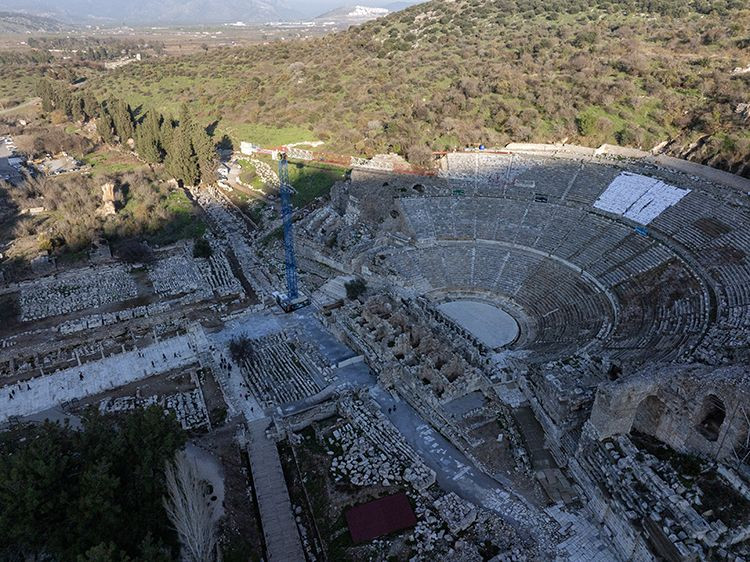
[(235, 140), (273, 141), (283, 126), (415, 162), (511, 140), (673, 141), (672, 153), (750, 175), (750, 72), (735, 71), (748, 65), (744, 0), (435, 0), (321, 39), (130, 65), (88, 87), (165, 112), (186, 101)]

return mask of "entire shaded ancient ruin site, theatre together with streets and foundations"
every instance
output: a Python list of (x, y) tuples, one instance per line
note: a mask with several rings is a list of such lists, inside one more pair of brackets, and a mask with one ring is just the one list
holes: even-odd
[[(290, 314), (278, 219), (213, 186), (209, 257), (5, 283), (0, 421), (231, 427), (278, 559), (750, 556), (750, 186), (565, 146), (387, 163), (295, 212)], [(401, 494), (416, 523), (355, 542)]]

